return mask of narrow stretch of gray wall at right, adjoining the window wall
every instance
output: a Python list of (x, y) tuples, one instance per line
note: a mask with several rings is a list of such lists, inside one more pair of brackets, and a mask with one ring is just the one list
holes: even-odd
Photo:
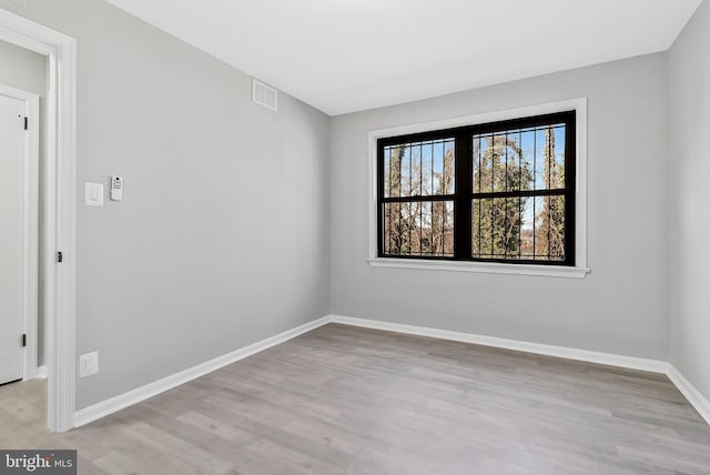
[(669, 53), (670, 361), (710, 400), (710, 2)]

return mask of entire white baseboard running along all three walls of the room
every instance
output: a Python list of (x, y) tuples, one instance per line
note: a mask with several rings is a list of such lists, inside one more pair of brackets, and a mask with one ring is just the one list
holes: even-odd
[[(278, 335), (262, 340), (243, 348), (215, 357), (196, 366), (172, 374), (162, 380), (149, 383), (144, 386), (120, 394), (110, 400), (102, 401), (74, 413), (74, 427), (89, 424), (116, 411), (145, 401), (160, 393), (187, 383), (196, 377), (212, 373), (223, 366), (243, 360), (255, 353), (267, 350), (303, 333), (310, 332), (327, 323), (342, 323), (345, 325), (361, 326), (365, 329), (383, 330), (387, 332), (405, 333), (409, 335), (428, 336), (455, 342), (473, 343), (477, 345), (494, 346), (506, 350), (515, 350), (526, 353), (535, 353), (547, 356), (562, 357), (567, 360), (582, 361), (587, 363), (606, 364), (609, 366), (625, 367), (629, 370), (648, 371), (666, 374), (678, 390), (688, 398), (690, 404), (710, 424), (710, 402), (670, 363), (660, 360), (639, 358), (610, 353), (577, 350), (566, 346), (546, 345), (541, 343), (523, 342), (518, 340), (499, 338), (495, 336), (476, 335), (473, 333), (452, 332), (448, 330), (430, 329), (425, 326), (405, 325), (400, 323), (383, 322), (376, 320), (355, 319), (343, 315), (326, 315), (313, 322), (280, 333)], [(44, 368), (42, 373), (42, 368)], [(41, 366), (38, 374), (47, 374), (47, 367)]]

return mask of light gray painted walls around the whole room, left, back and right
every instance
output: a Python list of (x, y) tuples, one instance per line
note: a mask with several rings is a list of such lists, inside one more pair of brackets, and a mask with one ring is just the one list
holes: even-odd
[[(326, 313), (661, 360), (670, 345), (710, 394), (708, 152), (693, 145), (707, 1), (670, 54), (332, 120), (283, 93), (277, 113), (251, 103), (248, 75), (102, 0), (3, 7), (79, 41), (78, 353), (99, 351), (101, 371), (79, 381), (78, 408)], [(371, 130), (579, 97), (586, 279), (368, 266)], [(111, 174), (124, 201), (85, 208), (83, 183)]]

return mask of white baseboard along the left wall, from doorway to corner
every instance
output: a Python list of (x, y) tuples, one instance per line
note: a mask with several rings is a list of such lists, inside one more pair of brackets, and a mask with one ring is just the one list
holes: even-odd
[(212, 373), (213, 371), (216, 371), (223, 366), (267, 350), (272, 346), (288, 341), (303, 333), (310, 332), (329, 322), (329, 316), (323, 316), (321, 319), (314, 320), (313, 322), (308, 322), (304, 325), (296, 326), (295, 329), (287, 330), (275, 336), (271, 336), (248, 346), (244, 346), (243, 348), (236, 350), (222, 356), (217, 356), (196, 366), (192, 366), (187, 370), (183, 370), (179, 373), (163, 377), (162, 380), (158, 380), (144, 386), (136, 387), (135, 390), (129, 391), (128, 393), (120, 394), (118, 396), (93, 404), (89, 407), (79, 410), (74, 413), (74, 427), (80, 427), (116, 411), (121, 411), (122, 408), (140, 403), (141, 401), (145, 401), (168, 390), (172, 390), (175, 386), (180, 386), (181, 384), (185, 384), (207, 373)]

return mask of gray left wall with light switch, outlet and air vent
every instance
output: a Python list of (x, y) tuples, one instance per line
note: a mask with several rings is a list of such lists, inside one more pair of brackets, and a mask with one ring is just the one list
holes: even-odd
[[(13, 11), (78, 39), (77, 407), (328, 313), (328, 117), (99, 0)], [(123, 202), (83, 183), (124, 176)]]

